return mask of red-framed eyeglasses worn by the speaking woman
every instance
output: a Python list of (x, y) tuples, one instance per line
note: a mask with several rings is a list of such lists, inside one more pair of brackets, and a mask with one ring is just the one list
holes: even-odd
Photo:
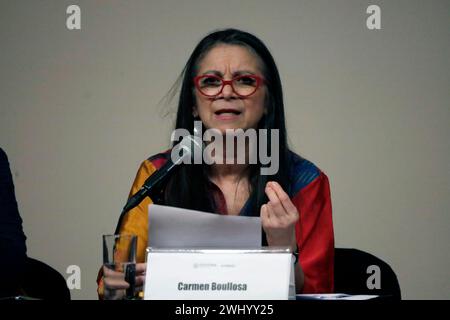
[(263, 82), (263, 78), (252, 74), (240, 75), (231, 80), (224, 80), (212, 74), (196, 76), (194, 78), (194, 84), (197, 90), (207, 97), (218, 96), (227, 84), (231, 86), (233, 92), (239, 97), (248, 97), (254, 94)]

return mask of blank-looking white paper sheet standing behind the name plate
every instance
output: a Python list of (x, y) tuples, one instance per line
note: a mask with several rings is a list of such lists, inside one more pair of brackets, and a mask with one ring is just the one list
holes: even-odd
[(260, 217), (149, 205), (149, 247), (261, 248)]

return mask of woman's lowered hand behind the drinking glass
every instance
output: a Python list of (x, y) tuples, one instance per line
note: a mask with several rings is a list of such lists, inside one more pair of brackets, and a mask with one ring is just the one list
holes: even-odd
[[(135, 294), (142, 291), (147, 263), (136, 263)], [(123, 272), (111, 270), (103, 266), (104, 299), (123, 299), (130, 284), (125, 281)]]

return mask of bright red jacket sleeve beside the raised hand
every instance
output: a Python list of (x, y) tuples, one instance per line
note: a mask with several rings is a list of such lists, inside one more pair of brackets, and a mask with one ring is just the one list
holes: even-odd
[(292, 200), (300, 213), (296, 236), (305, 274), (303, 293), (333, 292), (334, 233), (327, 176), (320, 172)]

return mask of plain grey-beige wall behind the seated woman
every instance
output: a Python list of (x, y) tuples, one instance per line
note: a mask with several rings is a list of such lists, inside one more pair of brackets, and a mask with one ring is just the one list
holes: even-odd
[[(66, 8), (81, 7), (80, 31)], [(366, 28), (381, 7), (382, 29)], [(159, 103), (195, 44), (237, 27), (271, 49), (291, 146), (330, 177), (336, 246), (382, 257), (406, 299), (450, 298), (449, 1), (0, 2), (0, 146), (28, 253), (95, 299), (142, 160), (169, 146)]]

